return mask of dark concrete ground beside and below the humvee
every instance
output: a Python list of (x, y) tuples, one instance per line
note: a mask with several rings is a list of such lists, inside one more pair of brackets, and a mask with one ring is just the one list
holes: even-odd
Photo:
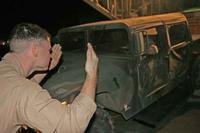
[(115, 127), (116, 133), (200, 133), (200, 89), (172, 91), (132, 120), (116, 119)]

